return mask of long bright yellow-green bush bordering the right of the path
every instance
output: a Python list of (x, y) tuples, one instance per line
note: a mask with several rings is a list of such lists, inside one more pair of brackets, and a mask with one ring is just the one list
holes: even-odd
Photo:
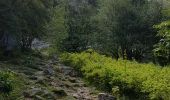
[(92, 50), (63, 54), (61, 61), (81, 71), (89, 82), (101, 89), (111, 92), (118, 86), (122, 93), (135, 93), (145, 99), (170, 99), (168, 67), (121, 59), (117, 61)]

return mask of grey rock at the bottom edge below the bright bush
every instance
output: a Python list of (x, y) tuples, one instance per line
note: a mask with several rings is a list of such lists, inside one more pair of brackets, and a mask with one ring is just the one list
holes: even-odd
[(116, 97), (107, 93), (99, 93), (98, 100), (117, 100)]

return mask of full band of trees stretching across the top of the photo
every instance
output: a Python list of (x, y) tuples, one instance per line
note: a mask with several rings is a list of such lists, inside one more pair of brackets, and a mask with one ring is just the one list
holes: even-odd
[(13, 48), (25, 51), (31, 48), (35, 38), (45, 38), (52, 43), (54, 51), (80, 52), (92, 48), (116, 59), (124, 58), (126, 52), (128, 60), (154, 61), (164, 66), (169, 63), (169, 57), (161, 57), (166, 61), (156, 60), (160, 57), (154, 51), (161, 49), (158, 42), (165, 38), (164, 33), (166, 40), (169, 39), (168, 3), (161, 0), (1, 0), (1, 48), (5, 53)]

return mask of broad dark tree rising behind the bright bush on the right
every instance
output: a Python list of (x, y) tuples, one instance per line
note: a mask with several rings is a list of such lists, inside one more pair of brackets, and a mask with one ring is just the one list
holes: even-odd
[(99, 31), (96, 34), (101, 51), (107, 50), (104, 52), (116, 58), (125, 58), (126, 53), (128, 59), (138, 61), (147, 52), (151, 53), (156, 39), (152, 26), (161, 19), (160, 2), (105, 0), (101, 4), (97, 16)]

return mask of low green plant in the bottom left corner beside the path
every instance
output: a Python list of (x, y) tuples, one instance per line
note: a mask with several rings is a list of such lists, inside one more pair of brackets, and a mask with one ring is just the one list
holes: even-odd
[(16, 100), (22, 94), (24, 81), (11, 71), (0, 71), (0, 99)]

